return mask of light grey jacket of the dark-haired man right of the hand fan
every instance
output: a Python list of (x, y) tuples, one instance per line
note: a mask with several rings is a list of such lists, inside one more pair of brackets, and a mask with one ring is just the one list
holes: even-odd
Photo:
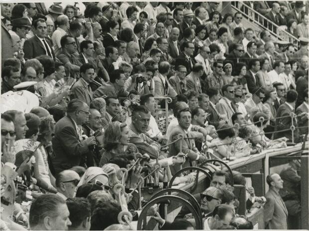
[(71, 91), (74, 93), (72, 98), (80, 99), (90, 105), (93, 99), (93, 93), (90, 86), (87, 86), (84, 79), (80, 78), (77, 82), (75, 82)]

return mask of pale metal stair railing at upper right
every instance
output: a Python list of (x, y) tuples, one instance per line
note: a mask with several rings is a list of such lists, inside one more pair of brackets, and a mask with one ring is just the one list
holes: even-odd
[(274, 22), (270, 21), (264, 15), (260, 14), (259, 12), (257, 12), (244, 2), (242, 2), (242, 7), (240, 7), (240, 5), (236, 6), (235, 1), (232, 1), (232, 8), (246, 15), (249, 18), (249, 20), (252, 20), (253, 22), (257, 23), (258, 26), (268, 30), (276, 38), (283, 41), (289, 41), (290, 43), (293, 44), (295, 42), (299, 42), (299, 39), (296, 38), (294, 35), (290, 34), (286, 30), (275, 24)]

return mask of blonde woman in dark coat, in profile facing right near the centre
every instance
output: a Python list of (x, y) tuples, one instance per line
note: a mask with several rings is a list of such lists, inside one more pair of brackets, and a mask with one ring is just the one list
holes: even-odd
[(138, 150), (130, 143), (127, 124), (118, 121), (110, 123), (105, 129), (104, 151), (99, 166), (109, 163), (110, 159), (120, 154), (133, 154)]

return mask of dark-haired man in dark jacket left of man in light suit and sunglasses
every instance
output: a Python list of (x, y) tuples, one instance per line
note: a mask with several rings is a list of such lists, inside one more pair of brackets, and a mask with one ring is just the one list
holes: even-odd
[(221, 120), (220, 114), (215, 107), (220, 99), (220, 92), (217, 88), (210, 87), (207, 90), (207, 95), (209, 96), (209, 107), (206, 110), (206, 112), (208, 113), (207, 121), (209, 125), (213, 125), (217, 129), (222, 124), (226, 123), (226, 121)]

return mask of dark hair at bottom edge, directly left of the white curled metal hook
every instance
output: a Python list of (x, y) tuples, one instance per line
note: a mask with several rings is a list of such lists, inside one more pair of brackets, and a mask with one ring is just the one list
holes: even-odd
[(118, 205), (118, 203), (98, 203), (92, 212), (90, 230), (104, 230), (110, 225), (119, 224), (117, 217), (120, 212), (121, 207)]

